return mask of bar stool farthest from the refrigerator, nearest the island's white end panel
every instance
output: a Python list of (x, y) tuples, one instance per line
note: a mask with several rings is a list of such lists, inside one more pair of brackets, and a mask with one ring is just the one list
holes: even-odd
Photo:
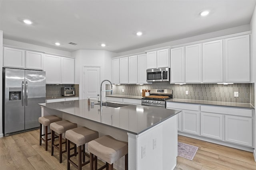
[[(90, 170), (97, 169), (97, 157), (106, 161), (106, 164), (99, 168), (100, 170), (106, 168), (108, 170), (113, 170), (113, 163), (125, 156), (125, 170), (128, 170), (128, 143), (124, 141), (118, 141), (113, 137), (106, 135), (90, 141), (88, 143), (88, 150), (90, 152)], [(94, 160), (95, 159), (95, 160)], [(94, 168), (93, 168), (94, 160)]]

